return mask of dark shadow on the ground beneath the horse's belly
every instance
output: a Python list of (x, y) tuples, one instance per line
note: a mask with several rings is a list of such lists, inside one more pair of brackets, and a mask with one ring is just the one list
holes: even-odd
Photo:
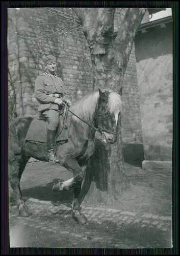
[[(22, 197), (25, 199), (35, 198), (42, 201), (51, 201), (56, 204), (64, 204), (70, 206), (72, 203), (72, 190), (53, 191), (54, 182), (63, 181), (61, 179), (54, 179), (53, 182), (47, 183), (45, 186), (36, 186), (27, 189), (22, 189)], [(10, 197), (11, 204), (14, 204), (14, 198)]]

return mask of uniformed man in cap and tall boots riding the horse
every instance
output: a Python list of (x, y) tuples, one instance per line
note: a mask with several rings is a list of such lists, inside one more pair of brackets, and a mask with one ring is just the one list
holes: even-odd
[[(47, 129), (47, 160), (49, 162), (59, 162), (54, 152), (55, 138), (59, 124), (59, 109), (63, 109), (62, 97), (66, 95), (64, 83), (55, 73), (56, 58), (47, 55), (44, 58), (45, 73), (40, 74), (35, 80), (35, 97), (40, 106), (38, 112), (46, 117), (48, 121)], [(70, 100), (66, 100), (70, 105)]]

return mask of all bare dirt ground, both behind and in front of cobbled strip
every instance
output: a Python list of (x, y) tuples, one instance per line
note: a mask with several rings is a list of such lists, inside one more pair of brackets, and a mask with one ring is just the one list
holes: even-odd
[[(71, 192), (53, 193), (54, 179), (66, 180), (72, 177), (65, 168), (58, 164), (45, 162), (28, 163), (20, 182), (22, 195), (37, 199), (30, 208), (33, 216), (17, 216), (16, 207), (10, 206), (10, 239), (11, 247), (75, 247), (75, 248), (162, 248), (171, 247), (170, 221), (163, 221), (160, 216), (171, 216), (171, 177), (152, 176), (141, 168), (125, 164), (131, 187), (120, 197), (116, 205), (99, 205), (127, 212), (114, 222), (111, 213), (106, 220), (100, 217), (100, 211), (91, 207), (88, 212), (88, 225), (78, 225), (70, 215), (66, 218), (48, 212), (57, 201), (71, 203)], [(12, 189), (10, 189), (10, 198)], [(54, 202), (47, 207), (40, 201)], [(11, 200), (13, 204), (13, 200)], [(12, 205), (11, 204), (11, 205)], [(82, 204), (83, 206), (84, 204)], [(85, 205), (86, 206), (86, 205)], [(88, 207), (87, 207), (88, 208)], [(44, 211), (45, 209), (45, 211)], [(35, 213), (37, 210), (37, 213)], [(141, 219), (128, 216), (128, 212), (139, 215), (153, 214), (161, 221)], [(96, 214), (96, 217), (93, 217)], [(93, 222), (97, 219), (97, 222)], [(164, 224), (163, 224), (164, 222)], [(149, 223), (149, 224), (148, 224)], [(161, 224), (162, 223), (162, 224)], [(158, 226), (164, 225), (164, 228)], [(164, 231), (163, 231), (164, 230)], [(17, 237), (18, 233), (18, 237)]]

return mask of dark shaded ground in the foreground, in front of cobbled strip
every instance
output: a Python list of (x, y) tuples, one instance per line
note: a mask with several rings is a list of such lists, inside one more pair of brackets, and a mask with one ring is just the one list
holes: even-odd
[[(18, 220), (17, 220), (18, 218)], [(32, 219), (31, 219), (32, 218)], [(162, 231), (156, 226), (145, 227), (141, 223), (114, 223), (104, 220), (101, 224), (89, 220), (88, 225), (79, 225), (69, 215), (36, 215), (25, 219), (26, 223), (43, 223), (39, 228), (23, 225), (17, 221), (19, 217), (10, 218), (11, 228), (15, 227), (15, 235), (22, 247), (75, 247), (76, 248), (165, 248), (171, 247), (171, 231)], [(20, 228), (21, 226), (21, 228)], [(56, 233), (48, 231), (60, 227)], [(17, 228), (21, 230), (18, 231)], [(37, 235), (35, 236), (35, 234)], [(28, 238), (28, 239), (27, 239)], [(39, 239), (40, 238), (40, 239)]]

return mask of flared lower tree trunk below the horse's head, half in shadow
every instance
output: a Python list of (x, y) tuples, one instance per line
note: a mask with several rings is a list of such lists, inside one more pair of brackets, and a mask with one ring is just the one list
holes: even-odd
[[(118, 126), (120, 129), (121, 122)], [(96, 142), (96, 150), (85, 169), (80, 203), (88, 205), (115, 205), (120, 195), (130, 186), (124, 172), (121, 134), (114, 146)]]

